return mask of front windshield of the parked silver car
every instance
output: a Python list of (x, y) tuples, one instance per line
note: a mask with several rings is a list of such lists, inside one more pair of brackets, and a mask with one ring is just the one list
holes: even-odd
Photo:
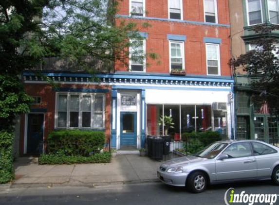
[(212, 143), (212, 144), (208, 145), (207, 147), (205, 147), (204, 150), (196, 153), (195, 156), (212, 159), (215, 156), (217, 156), (219, 153), (221, 153), (227, 145), (228, 145), (228, 143), (224, 143), (224, 142)]

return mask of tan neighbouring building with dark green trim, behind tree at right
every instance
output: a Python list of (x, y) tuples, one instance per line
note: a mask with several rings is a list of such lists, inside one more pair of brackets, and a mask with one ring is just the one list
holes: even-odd
[[(259, 38), (253, 28), (259, 24), (279, 24), (279, 0), (230, 0), (232, 55), (237, 58), (256, 48)], [(269, 36), (279, 39), (279, 31)], [(247, 73), (243, 68), (235, 70), (236, 134), (238, 139), (259, 139), (268, 143), (279, 143), (279, 126), (263, 104), (251, 100), (255, 90), (253, 81), (263, 73)]]

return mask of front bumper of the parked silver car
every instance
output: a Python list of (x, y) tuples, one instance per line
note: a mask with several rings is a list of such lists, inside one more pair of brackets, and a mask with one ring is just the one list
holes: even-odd
[(160, 169), (157, 170), (157, 176), (161, 180), (161, 182), (176, 187), (185, 187), (188, 174), (188, 172), (176, 174), (167, 173), (166, 171), (161, 171)]

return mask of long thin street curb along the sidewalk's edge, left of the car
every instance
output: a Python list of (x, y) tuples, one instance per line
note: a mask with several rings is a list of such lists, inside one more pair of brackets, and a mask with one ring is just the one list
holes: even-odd
[[(158, 179), (146, 180), (132, 180), (132, 181), (119, 181), (119, 182), (96, 182), (96, 183), (29, 183), (29, 184), (11, 184), (9, 188), (53, 188), (53, 187), (88, 187), (97, 188), (108, 185), (125, 185), (125, 184), (143, 184), (143, 183), (158, 183)], [(0, 187), (1, 188), (1, 187)]]

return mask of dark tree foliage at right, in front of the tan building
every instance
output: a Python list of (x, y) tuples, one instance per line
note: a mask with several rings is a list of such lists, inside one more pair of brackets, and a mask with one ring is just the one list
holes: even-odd
[(256, 49), (232, 59), (234, 68), (242, 67), (255, 77), (252, 81), (252, 100), (257, 104), (267, 102), (270, 113), (279, 118), (279, 39), (274, 32), (278, 25), (260, 24), (254, 27)]

